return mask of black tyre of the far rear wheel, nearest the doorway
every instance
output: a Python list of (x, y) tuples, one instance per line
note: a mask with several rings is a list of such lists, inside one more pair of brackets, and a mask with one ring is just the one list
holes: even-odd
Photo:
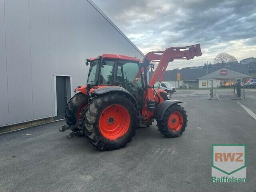
[[(76, 93), (68, 102), (66, 110), (65, 110), (65, 119), (67, 124), (75, 125), (76, 121), (78, 120), (77, 114), (79, 108), (84, 104), (87, 103), (87, 96), (82, 93)], [(76, 128), (77, 130), (73, 130), (74, 132), (79, 131), (80, 129)]]

